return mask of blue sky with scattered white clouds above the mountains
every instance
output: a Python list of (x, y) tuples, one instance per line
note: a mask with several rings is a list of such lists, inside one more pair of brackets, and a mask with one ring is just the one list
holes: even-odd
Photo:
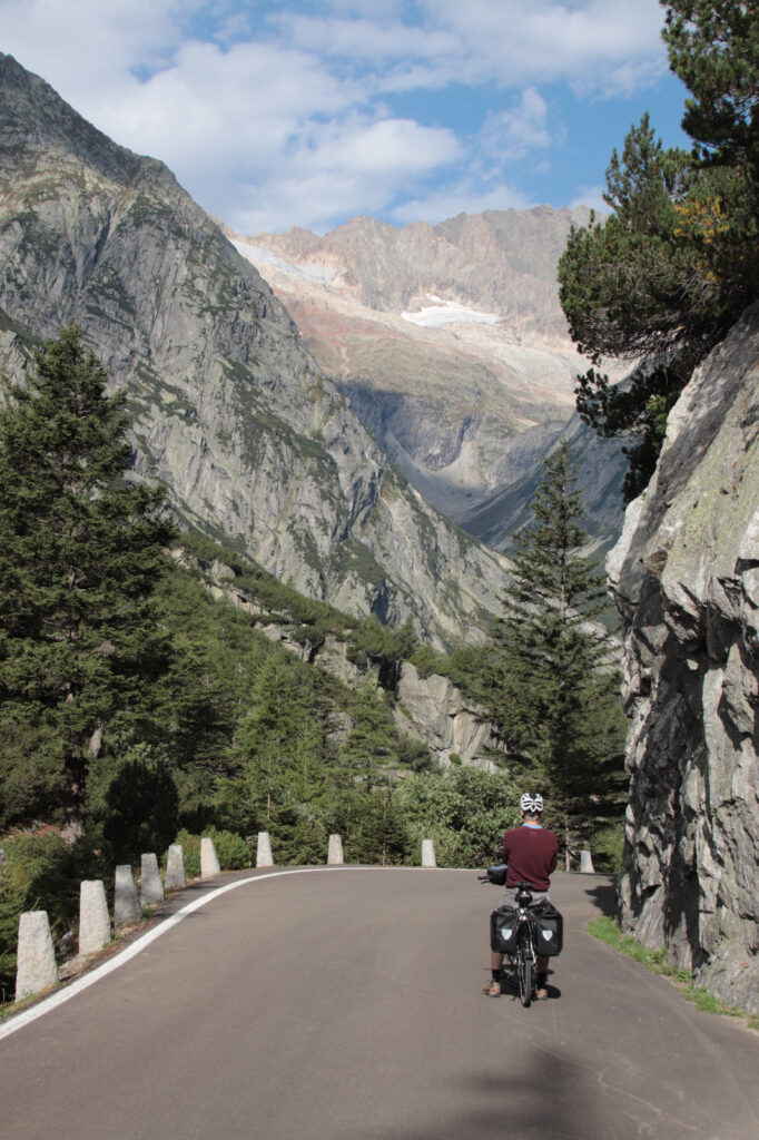
[(0, 0), (0, 51), (239, 234), (604, 209), (687, 95), (658, 0)]

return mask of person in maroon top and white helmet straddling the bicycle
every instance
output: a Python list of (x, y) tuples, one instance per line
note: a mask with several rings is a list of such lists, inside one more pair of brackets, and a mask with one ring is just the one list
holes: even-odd
[[(529, 882), (533, 888), (532, 902), (539, 903), (548, 897), (550, 874), (556, 870), (558, 841), (553, 831), (540, 825), (542, 814), (542, 796), (525, 792), (520, 799), (522, 826), (512, 828), (504, 836), (503, 860), (507, 864), (506, 886), (499, 906), (516, 906), (516, 883)], [(488, 997), (500, 995), (501, 968), (504, 955), (490, 952), (490, 982), (482, 987)], [(546, 978), (548, 959), (538, 955), (534, 996), (538, 1000), (548, 996)]]

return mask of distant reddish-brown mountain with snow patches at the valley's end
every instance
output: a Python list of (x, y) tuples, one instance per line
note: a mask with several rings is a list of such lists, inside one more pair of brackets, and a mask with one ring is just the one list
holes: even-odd
[[(571, 227), (589, 217), (539, 206), (402, 229), (356, 218), (323, 238), (227, 233), (416, 489), (472, 534), (484, 512), (505, 548), (512, 512), (496, 516), (500, 497), (524, 494), (587, 368), (558, 303), (556, 263)], [(582, 466), (595, 434), (571, 431)], [(622, 526), (623, 471), (615, 440), (583, 467), (583, 483), (614, 503), (588, 497), (590, 529), (606, 545)]]

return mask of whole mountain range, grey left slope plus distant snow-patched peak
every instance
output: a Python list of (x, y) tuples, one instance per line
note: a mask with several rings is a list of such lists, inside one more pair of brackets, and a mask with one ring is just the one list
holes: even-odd
[[(77, 321), (187, 524), (438, 644), (485, 628), (572, 412), (554, 271), (587, 212), (239, 238), (10, 56), (0, 93), (0, 369)], [(623, 464), (578, 440), (606, 543)]]

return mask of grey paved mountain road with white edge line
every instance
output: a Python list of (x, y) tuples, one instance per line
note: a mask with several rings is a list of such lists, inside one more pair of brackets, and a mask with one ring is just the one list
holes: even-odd
[(480, 994), (473, 872), (239, 879), (0, 1040), (2, 1140), (759, 1135), (759, 1036), (585, 934), (604, 877), (555, 877), (566, 948), (529, 1010)]

